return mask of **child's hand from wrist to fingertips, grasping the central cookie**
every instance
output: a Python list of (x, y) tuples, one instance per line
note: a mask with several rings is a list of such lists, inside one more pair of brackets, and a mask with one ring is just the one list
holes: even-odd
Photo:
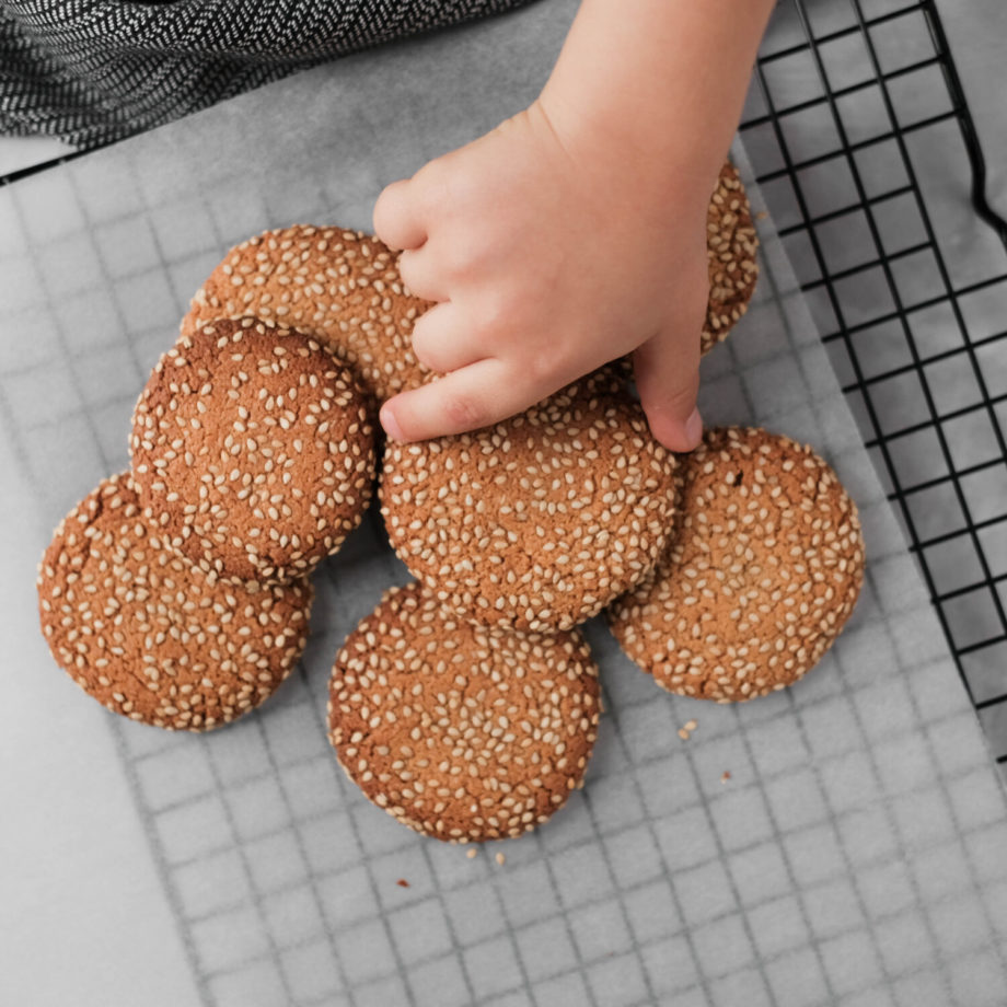
[(412, 291), (438, 302), (414, 351), (449, 372), (385, 403), (396, 440), (487, 426), (635, 351), (655, 437), (698, 443), (713, 184), (648, 187), (610, 137), (556, 121), (536, 102), (381, 194), (378, 236), (405, 250)]

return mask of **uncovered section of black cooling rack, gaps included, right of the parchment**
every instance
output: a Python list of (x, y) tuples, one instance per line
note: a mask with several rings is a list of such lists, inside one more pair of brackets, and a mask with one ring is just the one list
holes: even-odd
[(1007, 768), (1007, 223), (933, 0), (780, 3), (741, 132)]

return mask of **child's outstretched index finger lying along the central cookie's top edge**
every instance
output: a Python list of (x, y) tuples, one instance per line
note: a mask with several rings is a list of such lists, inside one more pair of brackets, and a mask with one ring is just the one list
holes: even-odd
[(522, 381), (507, 362), (485, 357), (390, 398), (381, 407), (381, 426), (393, 440), (404, 442), (463, 433), (513, 416), (549, 391)]

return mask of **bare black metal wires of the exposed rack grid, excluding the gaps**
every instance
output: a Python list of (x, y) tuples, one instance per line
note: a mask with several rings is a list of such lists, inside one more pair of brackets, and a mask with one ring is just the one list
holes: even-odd
[[(962, 310), (962, 300), (969, 294), (994, 288), (998, 283), (1004, 283), (1007, 281), (1007, 274), (984, 277), (980, 281), (961, 285), (959, 287), (954, 286), (945, 253), (937, 240), (935, 225), (924, 196), (924, 188), (921, 185), (921, 178), (917, 175), (913, 158), (907, 147), (907, 137), (915, 132), (931, 129), (942, 123), (952, 120), (957, 123), (972, 169), (972, 204), (974, 211), (980, 219), (993, 228), (1000, 242), (1003, 242), (1005, 250), (1007, 250), (1007, 222), (993, 210), (986, 198), (986, 174), (982, 149), (979, 143), (969, 106), (965, 102), (961, 81), (948, 46), (948, 39), (933, 0), (915, 0), (915, 2), (905, 3), (898, 10), (886, 11), (877, 16), (867, 16), (865, 14), (864, 0), (850, 0), (850, 4), (853, 11), (850, 23), (838, 30), (817, 36), (811, 16), (813, 12), (810, 10), (808, 0), (794, 0), (794, 12), (805, 38), (798, 44), (787, 45), (785, 48), (760, 57), (756, 65), (755, 79), (761, 89), (762, 99), (767, 111), (763, 114), (748, 117), (742, 123), (741, 130), (744, 135), (760, 127), (767, 127), (775, 137), (778, 147), (778, 158), (776, 158), (775, 151), (773, 152), (773, 157), (763, 158), (762, 160), (764, 161), (766, 170), (760, 170), (761, 159), (757, 151), (752, 153), (752, 162), (756, 172), (756, 178), (762, 184), (772, 183), (776, 180), (787, 180), (790, 184), (794, 199), (799, 210), (800, 220), (799, 222), (780, 228), (780, 236), (787, 239), (802, 235), (803, 239), (807, 240), (808, 246), (810, 246), (811, 255), (813, 256), (819, 275), (802, 283), (802, 289), (806, 292), (814, 291), (820, 296), (824, 294), (827, 299), (827, 304), (835, 319), (835, 325), (831, 331), (825, 331), (823, 333), (824, 339), (826, 343), (841, 343), (845, 348), (854, 380), (844, 387), (844, 391), (850, 396), (856, 396), (863, 403), (868, 427), (865, 431), (867, 447), (876, 449), (877, 455), (880, 456), (883, 466), (882, 474), (888, 477), (888, 482), (891, 486), (890, 499), (898, 505), (901, 512), (912, 549), (919, 560), (919, 567), (923, 571), (924, 579), (945, 634), (954, 653), (959, 672), (972, 697), (973, 705), (976, 710), (985, 710), (991, 707), (1007, 704), (1007, 669), (1004, 671), (1003, 682), (996, 695), (992, 697), (977, 697), (973, 690), (973, 684), (970, 682), (969, 674), (967, 673), (964, 659), (969, 655), (983, 651), (986, 648), (997, 647), (1007, 641), (1007, 612), (1005, 612), (1004, 601), (998, 591), (998, 587), (1004, 584), (1005, 580), (1007, 580), (1007, 575), (995, 575), (993, 572), (989, 559), (985, 554), (983, 541), (980, 537), (980, 532), (984, 529), (1007, 521), (1007, 499), (998, 501), (999, 509), (995, 516), (979, 520), (973, 516), (970, 509), (969, 499), (962, 482), (968, 476), (975, 473), (992, 468), (993, 466), (1007, 464), (1007, 442), (1005, 442), (1004, 431), (996, 412), (996, 406), (1003, 404), (1005, 400), (1007, 400), (1007, 395), (991, 395), (981, 362), (976, 356), (977, 349), (998, 343), (999, 340), (1005, 340), (1003, 347), (1005, 352), (1007, 352), (1007, 331), (988, 336), (973, 337), (967, 322), (965, 313)], [(879, 56), (873, 37), (873, 30), (877, 30), (881, 25), (896, 22), (900, 19), (910, 16), (918, 18), (919, 15), (926, 21), (926, 26), (934, 46), (934, 54), (915, 60), (907, 66), (900, 66), (896, 69), (887, 70)], [(873, 76), (871, 79), (866, 79), (847, 86), (832, 89), (830, 88), (829, 72), (823, 58), (823, 50), (829, 43), (848, 39), (852, 36), (858, 36), (863, 40)], [(779, 106), (774, 100), (769, 76), (777, 66), (782, 63), (785, 65), (787, 60), (792, 60), (795, 58), (803, 60), (806, 66), (810, 58), (818, 71), (823, 91), (820, 95), (800, 101), (799, 103)], [(894, 81), (905, 79), (910, 74), (927, 68), (939, 68), (942, 73), (949, 107), (947, 111), (927, 115), (910, 124), (902, 124), (900, 123), (895, 107), (892, 84)], [(866, 92), (868, 89), (873, 89), (880, 93), (880, 99), (888, 116), (890, 128), (867, 139), (853, 140), (846, 129), (844, 116), (840, 108), (840, 102), (848, 95), (856, 95), (858, 92)], [(838, 143), (830, 150), (815, 153), (813, 157), (800, 158), (791, 150), (787, 131), (784, 128), (784, 119), (786, 116), (799, 112), (809, 112), (811, 109), (818, 109), (818, 115), (825, 117), (827, 121), (831, 123), (832, 128), (834, 128), (838, 137)], [(882, 143), (894, 144), (899, 158), (902, 161), (902, 170), (906, 181), (883, 193), (871, 194), (868, 185), (865, 183), (864, 172), (858, 163), (857, 154)], [(757, 147), (757, 144), (755, 146)], [(783, 161), (782, 166), (778, 165), (779, 158), (782, 158)], [(837, 158), (845, 159), (856, 190), (856, 202), (815, 216), (812, 212), (811, 202), (805, 190), (802, 173), (817, 165), (834, 162)], [(774, 160), (777, 163), (774, 163)], [(891, 201), (899, 197), (912, 200), (922, 221), (923, 235), (919, 241), (914, 241), (912, 244), (900, 248), (898, 252), (886, 254), (883, 251), (884, 242), (878, 220), (878, 211), (882, 206), (891, 205)], [(876, 254), (868, 261), (853, 266), (830, 268), (829, 258), (823, 248), (819, 229), (824, 223), (836, 223), (841, 225), (844, 219), (852, 220), (855, 215), (859, 220), (866, 221)], [(919, 256), (922, 253), (931, 256), (933, 263), (936, 266), (936, 282), (933, 288), (933, 293), (929, 293), (923, 300), (906, 303), (896, 279), (895, 269), (899, 267), (900, 263), (911, 263), (914, 256)], [(844, 311), (843, 298), (841, 297), (838, 285), (844, 280), (853, 280), (857, 277), (865, 277), (868, 274), (880, 275), (883, 278), (884, 286), (888, 288), (888, 294), (891, 299), (892, 309), (871, 316), (866, 321), (852, 321), (846, 317), (847, 312)], [(962, 345), (953, 349), (927, 355), (917, 344), (911, 324), (912, 316), (917, 312), (937, 306), (942, 306), (947, 310), (950, 324), (958, 329)], [(1007, 304), (1005, 304), (1005, 309), (1007, 309)], [(1007, 317), (1007, 310), (1005, 310), (1005, 317)], [(875, 329), (884, 324), (893, 325), (894, 331), (901, 333), (908, 347), (910, 360), (896, 367), (877, 371), (875, 367), (869, 366), (867, 356), (869, 350), (865, 350), (863, 346), (858, 345), (854, 336), (856, 336), (857, 333)], [(963, 408), (956, 408), (941, 413), (935, 402), (927, 367), (936, 361), (962, 355), (971, 367), (972, 378), (979, 389), (980, 401)], [(868, 371), (870, 371), (870, 377), (867, 377)], [(923, 390), (927, 416), (923, 421), (906, 424), (895, 430), (887, 430), (879, 416), (879, 401), (884, 394), (883, 383), (894, 377), (911, 373), (916, 374)], [(970, 465), (957, 464), (954, 453), (948, 442), (946, 425), (950, 420), (976, 413), (977, 410), (983, 410), (988, 418), (996, 439), (999, 458)], [(936, 438), (936, 443), (939, 448), (939, 458), (935, 460), (936, 464), (933, 471), (938, 474), (922, 482), (914, 482), (912, 485), (906, 485), (904, 479), (901, 478), (899, 466), (893, 459), (893, 444), (902, 438), (923, 431), (930, 431)], [(927, 537), (922, 534), (917, 526), (917, 522), (914, 520), (910, 501), (916, 494), (945, 485), (950, 487), (953, 498), (960, 508), (963, 517), (963, 526)], [(1005, 524), (1004, 528), (1005, 534), (1007, 534), (1007, 524)], [(971, 546), (979, 575), (970, 578), (967, 584), (962, 586), (957, 583), (953, 588), (945, 588), (941, 586), (939, 571), (931, 566), (928, 559), (927, 549), (962, 536), (968, 540), (968, 544)], [(987, 635), (980, 640), (962, 643), (957, 639), (956, 633), (953, 632), (953, 614), (950, 609), (950, 603), (957, 599), (967, 598), (970, 592), (981, 591), (984, 591), (992, 602), (996, 621), (998, 622), (998, 632)], [(997, 753), (997, 761), (1002, 764), (1007, 763), (1007, 750)]]

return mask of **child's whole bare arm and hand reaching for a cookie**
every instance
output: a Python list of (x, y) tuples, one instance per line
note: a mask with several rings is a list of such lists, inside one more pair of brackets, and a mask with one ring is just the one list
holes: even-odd
[(390, 185), (374, 231), (436, 304), (389, 400), (425, 440), (519, 413), (633, 354), (653, 436), (699, 442), (706, 209), (773, 0), (582, 0), (539, 99)]

